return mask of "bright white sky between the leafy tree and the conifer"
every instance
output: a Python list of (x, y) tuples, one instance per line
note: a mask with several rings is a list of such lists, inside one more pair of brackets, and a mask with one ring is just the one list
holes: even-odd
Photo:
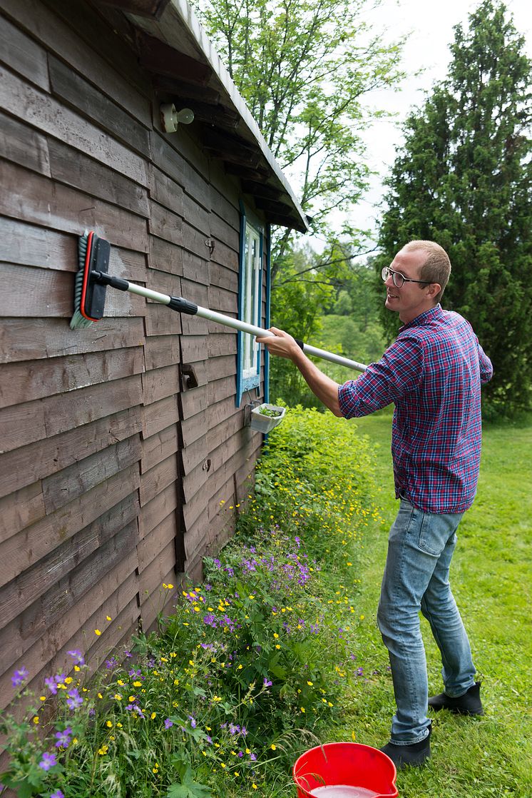
[[(451, 60), (449, 45), (455, 38), (453, 27), (461, 22), (467, 30), (468, 14), (478, 5), (478, 0), (383, 0), (368, 13), (377, 30), (387, 31), (388, 41), (411, 34), (402, 58), (403, 68), (411, 77), (399, 91), (383, 90), (367, 98), (375, 108), (398, 116), (395, 120), (378, 120), (364, 134), (368, 165), (379, 175), (372, 178), (365, 199), (349, 214), (349, 221), (357, 227), (375, 229), (379, 215), (376, 205), (384, 192), (382, 178), (395, 160), (396, 146), (402, 143), (398, 124), (412, 107), (423, 103), (424, 91), (446, 77)], [(526, 53), (532, 57), (532, 0), (506, 0), (506, 7), (513, 14), (518, 33), (526, 37)], [(412, 77), (421, 68), (424, 73)]]

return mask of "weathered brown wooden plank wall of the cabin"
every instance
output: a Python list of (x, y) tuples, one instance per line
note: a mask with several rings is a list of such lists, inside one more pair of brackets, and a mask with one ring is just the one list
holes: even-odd
[(234, 332), (112, 289), (104, 319), (69, 329), (85, 228), (112, 275), (236, 315), (234, 180), (193, 126), (157, 129), (148, 75), (90, 6), (0, 14), (3, 708), (14, 668), (41, 689), (68, 650), (96, 662), (152, 625), (162, 583), (199, 576), (262, 437), (235, 407)]

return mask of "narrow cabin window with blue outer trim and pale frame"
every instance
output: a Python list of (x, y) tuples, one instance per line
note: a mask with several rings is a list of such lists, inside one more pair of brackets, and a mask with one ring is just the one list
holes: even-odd
[[(262, 231), (251, 225), (242, 213), (240, 225), (240, 273), (238, 318), (262, 326)], [(260, 385), (260, 352), (252, 335), (238, 333), (238, 370), (236, 404), (242, 393)]]

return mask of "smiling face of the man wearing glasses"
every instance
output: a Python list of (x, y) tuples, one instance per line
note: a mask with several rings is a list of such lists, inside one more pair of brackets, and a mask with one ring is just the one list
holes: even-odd
[[(398, 271), (404, 277), (419, 280), (421, 267), (427, 260), (423, 250), (400, 250), (390, 263), (392, 271)], [(416, 316), (434, 306), (434, 290), (426, 283), (404, 282), (400, 288), (393, 284), (392, 275), (384, 282), (386, 286), (386, 302), (388, 310), (395, 310), (403, 324), (412, 322)]]

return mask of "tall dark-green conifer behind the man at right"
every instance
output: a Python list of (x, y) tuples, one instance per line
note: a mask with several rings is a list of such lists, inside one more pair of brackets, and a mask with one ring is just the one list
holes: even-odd
[[(451, 53), (447, 79), (405, 124), (377, 271), (410, 239), (447, 249), (443, 305), (471, 322), (493, 361), (492, 407), (514, 411), (530, 406), (532, 384), (531, 62), (493, 0), (480, 3), (468, 30), (455, 27)], [(389, 335), (399, 324), (392, 317), (384, 310)]]

